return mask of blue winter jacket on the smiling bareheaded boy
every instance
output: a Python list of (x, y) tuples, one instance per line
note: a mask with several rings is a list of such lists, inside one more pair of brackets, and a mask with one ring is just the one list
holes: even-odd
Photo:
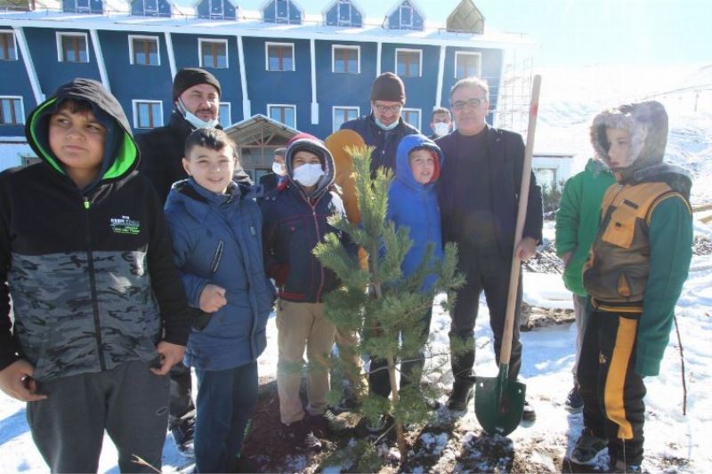
[(202, 330), (191, 328), (185, 364), (225, 370), (254, 361), (267, 343), (275, 296), (263, 268), (255, 188), (233, 181), (219, 195), (192, 178), (178, 181), (168, 194), (166, 220), (190, 306), (198, 312), (208, 283), (225, 288), (228, 301)]

